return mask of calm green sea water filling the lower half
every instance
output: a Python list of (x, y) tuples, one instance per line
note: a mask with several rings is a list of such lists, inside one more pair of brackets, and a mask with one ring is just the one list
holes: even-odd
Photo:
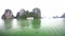
[(65, 36), (65, 19), (0, 19), (0, 36)]

